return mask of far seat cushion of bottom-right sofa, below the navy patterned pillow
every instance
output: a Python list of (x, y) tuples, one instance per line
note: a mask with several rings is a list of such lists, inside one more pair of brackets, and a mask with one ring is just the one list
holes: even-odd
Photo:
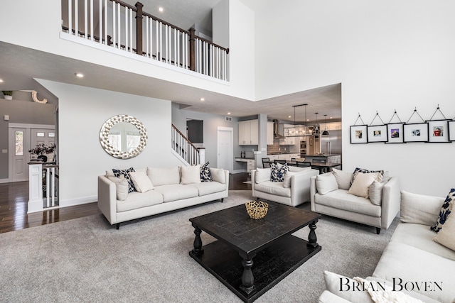
[(433, 241), (437, 233), (430, 231), (429, 226), (422, 224), (398, 224), (395, 232), (390, 238), (390, 242), (404, 243), (414, 246), (429, 253), (440, 255), (441, 257), (455, 260), (455, 251)]

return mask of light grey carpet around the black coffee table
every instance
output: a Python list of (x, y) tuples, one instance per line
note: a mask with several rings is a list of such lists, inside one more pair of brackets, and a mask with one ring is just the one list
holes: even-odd
[[(95, 215), (1, 233), (0, 301), (241, 302), (188, 255), (189, 219), (251, 199), (251, 191), (230, 191), (224, 203), (130, 221), (118, 231)], [(370, 226), (323, 216), (316, 228), (321, 252), (256, 302), (317, 302), (324, 270), (371, 275), (397, 223), (378, 236)], [(306, 227), (294, 235), (308, 233)], [(201, 238), (213, 241), (206, 233)]]

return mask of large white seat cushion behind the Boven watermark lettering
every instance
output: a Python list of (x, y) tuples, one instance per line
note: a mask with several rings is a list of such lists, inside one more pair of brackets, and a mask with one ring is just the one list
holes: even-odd
[[(452, 302), (455, 298), (454, 272), (455, 262), (449, 259), (404, 243), (390, 242), (382, 253), (373, 277), (389, 281), (395, 278), (396, 284), (402, 281), (401, 285), (412, 282), (414, 292), (439, 302)], [(432, 283), (432, 291), (425, 291), (422, 287), (425, 281)], [(416, 282), (420, 283), (419, 290), (415, 286)], [(435, 282), (441, 286), (442, 291)]]

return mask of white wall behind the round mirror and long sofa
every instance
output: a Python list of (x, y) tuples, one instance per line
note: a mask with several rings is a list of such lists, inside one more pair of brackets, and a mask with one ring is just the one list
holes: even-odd
[[(97, 176), (112, 168), (171, 167), (171, 101), (38, 79), (58, 97), (60, 206), (97, 201)], [(113, 158), (102, 149), (100, 129), (112, 116), (127, 114), (146, 128), (146, 148), (137, 157)]]

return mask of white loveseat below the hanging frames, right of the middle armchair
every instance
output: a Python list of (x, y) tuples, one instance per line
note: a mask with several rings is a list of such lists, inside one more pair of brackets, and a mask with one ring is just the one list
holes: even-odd
[(398, 179), (375, 182), (376, 188), (370, 187), (370, 197), (365, 198), (348, 193), (352, 178), (353, 172), (342, 170), (319, 175), (317, 180), (311, 177), (311, 211), (375, 226), (379, 234), (380, 228), (387, 229), (400, 211)]

